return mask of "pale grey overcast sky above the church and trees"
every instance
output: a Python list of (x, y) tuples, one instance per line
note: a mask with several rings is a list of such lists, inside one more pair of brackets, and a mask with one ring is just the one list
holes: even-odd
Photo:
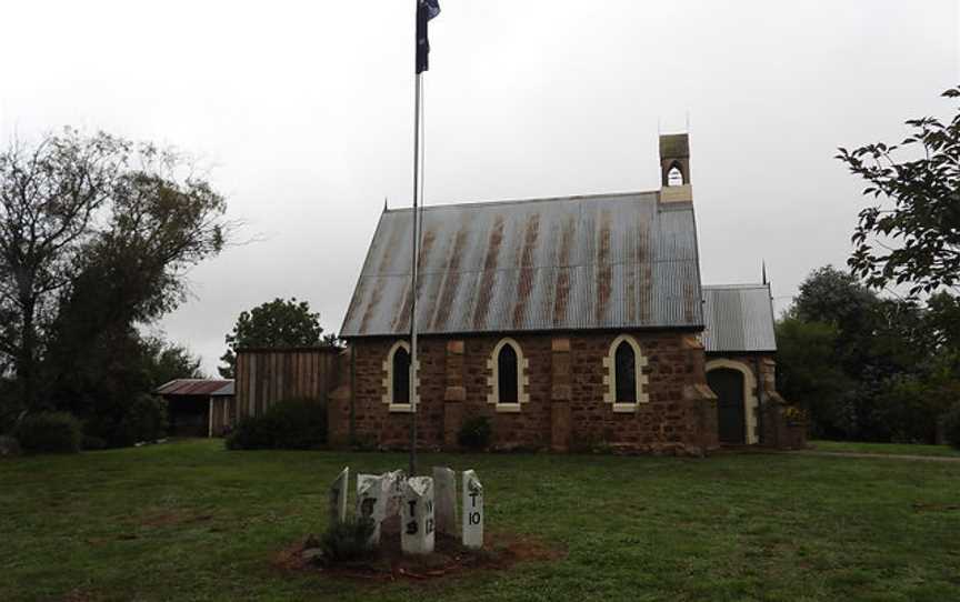
[[(958, 2), (440, 0), (430, 203), (659, 188), (687, 128), (704, 284), (777, 310), (842, 264), (838, 146), (902, 139), (960, 82)], [(413, 0), (0, 0), (0, 138), (66, 124), (173, 144), (246, 222), (162, 321), (213, 373), (237, 314), (308, 300), (337, 331), (377, 219), (411, 198)]]

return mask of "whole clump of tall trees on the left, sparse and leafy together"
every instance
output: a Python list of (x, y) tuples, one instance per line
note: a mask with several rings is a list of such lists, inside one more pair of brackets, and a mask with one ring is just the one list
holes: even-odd
[(51, 400), (41, 360), (61, 383), (136, 373), (116, 365), (139, 357), (136, 324), (177, 307), (184, 272), (223, 248), (226, 202), (189, 167), (171, 150), (69, 129), (0, 154), (0, 353), (27, 409)]

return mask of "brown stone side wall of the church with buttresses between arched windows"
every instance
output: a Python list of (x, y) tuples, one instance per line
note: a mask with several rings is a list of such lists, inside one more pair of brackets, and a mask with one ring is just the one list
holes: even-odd
[[(693, 334), (633, 332), (646, 358), (646, 403), (614, 412), (604, 358), (620, 332), (512, 335), (522, 352), (522, 392), (516, 408), (490, 402), (488, 360), (503, 337), (423, 337), (418, 341), (419, 442), (456, 449), (464, 420), (487, 417), (492, 448), (701, 454), (717, 447), (716, 398), (706, 387), (703, 349)], [(409, 442), (410, 414), (383, 402), (383, 362), (394, 339), (358, 339), (353, 438), (381, 449)], [(621, 408), (621, 410), (623, 410)], [(332, 412), (344, 417), (342, 407)], [(337, 427), (331, 425), (337, 429)], [(342, 429), (340, 429), (342, 431)], [(338, 432), (340, 432), (338, 431)]]

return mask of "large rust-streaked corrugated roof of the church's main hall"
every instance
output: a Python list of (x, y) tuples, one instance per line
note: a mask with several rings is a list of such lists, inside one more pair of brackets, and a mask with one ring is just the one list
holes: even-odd
[[(412, 210), (384, 211), (341, 337), (410, 329)], [(703, 324), (692, 203), (657, 192), (428, 207), (424, 334)]]

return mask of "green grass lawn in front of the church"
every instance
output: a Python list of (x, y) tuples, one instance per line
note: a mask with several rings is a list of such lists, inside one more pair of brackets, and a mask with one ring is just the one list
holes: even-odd
[[(403, 454), (228, 452), (217, 441), (0, 462), (0, 600), (960, 599), (960, 463), (439, 455), (477, 469), (488, 529), (552, 562), (429, 583), (283, 574), (337, 472)], [(81, 598), (82, 596), (82, 598)]]

